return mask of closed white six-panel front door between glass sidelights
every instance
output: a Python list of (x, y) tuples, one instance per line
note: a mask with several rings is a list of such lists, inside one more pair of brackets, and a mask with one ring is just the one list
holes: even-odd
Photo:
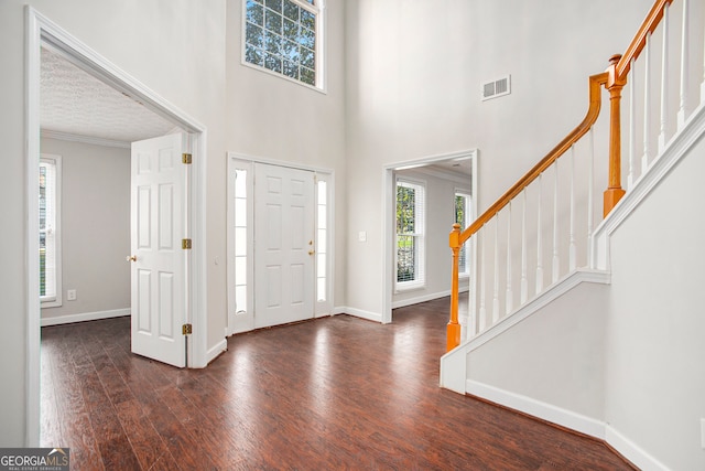
[(314, 172), (254, 164), (254, 328), (314, 317)]

